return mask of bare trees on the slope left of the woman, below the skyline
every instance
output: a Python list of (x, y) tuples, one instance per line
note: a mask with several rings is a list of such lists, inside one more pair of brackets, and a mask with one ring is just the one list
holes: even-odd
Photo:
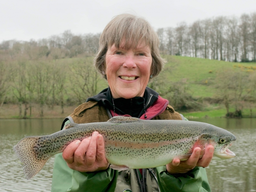
[(59, 105), (64, 113), (64, 106), (80, 105), (96, 95), (102, 89), (100, 80), (104, 81), (92, 66), (92, 57), (1, 61), (0, 109), (3, 103), (17, 104), (19, 117), (27, 118), (33, 115), (32, 107), (38, 107), (43, 117), (44, 106)]

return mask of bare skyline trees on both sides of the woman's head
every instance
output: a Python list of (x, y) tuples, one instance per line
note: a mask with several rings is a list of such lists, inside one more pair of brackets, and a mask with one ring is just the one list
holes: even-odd
[[(229, 62), (256, 61), (256, 12), (240, 17), (208, 18), (190, 25), (159, 28), (162, 54), (200, 57)], [(100, 33), (74, 35), (64, 31), (38, 41), (3, 41), (1, 53), (10, 57), (22, 52), (33, 52), (30, 59), (50, 57), (60, 59), (77, 55), (94, 55), (98, 49)]]

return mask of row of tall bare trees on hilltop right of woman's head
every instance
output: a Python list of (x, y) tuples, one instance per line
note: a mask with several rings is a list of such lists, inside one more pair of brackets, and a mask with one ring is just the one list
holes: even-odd
[(160, 50), (170, 55), (225, 60), (256, 61), (256, 12), (239, 18), (219, 16), (159, 28)]

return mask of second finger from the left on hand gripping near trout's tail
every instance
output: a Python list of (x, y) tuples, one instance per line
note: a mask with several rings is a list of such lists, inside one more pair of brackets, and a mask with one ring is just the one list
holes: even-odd
[(88, 146), (90, 145), (91, 137), (85, 138), (82, 140), (81, 144), (75, 150), (74, 153), (74, 163), (75, 164), (84, 164), (85, 161), (85, 153), (87, 151)]

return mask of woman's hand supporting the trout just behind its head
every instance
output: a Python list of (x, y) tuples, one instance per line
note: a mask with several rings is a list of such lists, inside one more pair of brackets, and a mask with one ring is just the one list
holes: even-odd
[(202, 159), (199, 159), (201, 148), (196, 147), (188, 160), (180, 161), (180, 159), (174, 159), (166, 165), (166, 170), (170, 174), (178, 174), (186, 173), (194, 169), (195, 166), (207, 167), (213, 158), (213, 151), (214, 147), (212, 145), (207, 146)]

